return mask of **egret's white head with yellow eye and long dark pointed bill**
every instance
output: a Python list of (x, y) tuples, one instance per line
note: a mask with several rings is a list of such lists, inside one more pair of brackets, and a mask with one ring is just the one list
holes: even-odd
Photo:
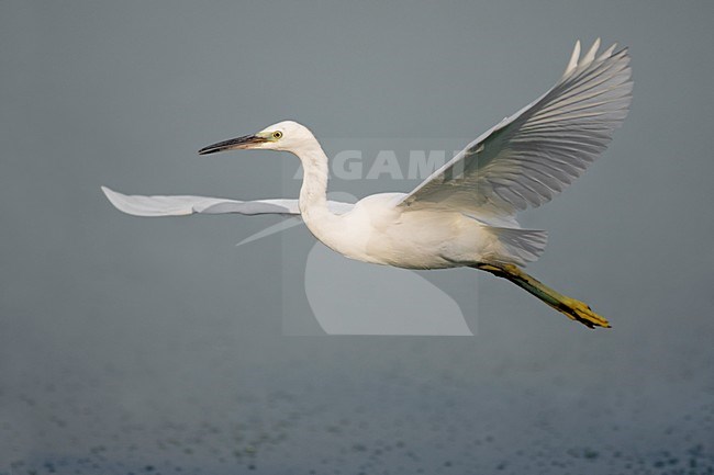
[(292, 121), (278, 122), (260, 132), (243, 137), (219, 142), (199, 150), (199, 155), (216, 154), (236, 149), (264, 149), (299, 151), (315, 143), (315, 137), (304, 125)]

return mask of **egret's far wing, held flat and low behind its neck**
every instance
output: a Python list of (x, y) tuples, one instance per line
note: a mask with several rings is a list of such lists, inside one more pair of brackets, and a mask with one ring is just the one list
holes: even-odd
[[(102, 186), (102, 191), (116, 210), (134, 216), (187, 216), (196, 213), (279, 214), (285, 216), (300, 214), (298, 200), (237, 201), (188, 195), (142, 196), (118, 193), (107, 186)], [(327, 206), (335, 214), (344, 214), (352, 210), (354, 204), (330, 201)]]

